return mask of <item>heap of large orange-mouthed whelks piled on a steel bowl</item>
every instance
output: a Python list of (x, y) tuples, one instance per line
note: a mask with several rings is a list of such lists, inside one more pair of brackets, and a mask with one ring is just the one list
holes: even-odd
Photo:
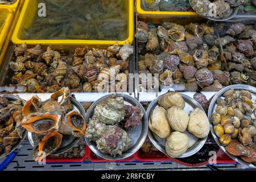
[(23, 106), (21, 125), (32, 133), (35, 161), (57, 151), (64, 135), (78, 138), (85, 135), (84, 117), (77, 110), (72, 110), (70, 97), (70, 90), (63, 87), (48, 101), (42, 102), (38, 96), (33, 96)]

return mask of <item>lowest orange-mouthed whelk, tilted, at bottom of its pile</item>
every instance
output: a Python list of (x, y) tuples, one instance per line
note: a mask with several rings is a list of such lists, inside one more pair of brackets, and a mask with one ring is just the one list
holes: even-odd
[(42, 139), (38, 146), (33, 150), (33, 159), (42, 161), (46, 156), (55, 152), (62, 142), (63, 136), (60, 133), (53, 132)]

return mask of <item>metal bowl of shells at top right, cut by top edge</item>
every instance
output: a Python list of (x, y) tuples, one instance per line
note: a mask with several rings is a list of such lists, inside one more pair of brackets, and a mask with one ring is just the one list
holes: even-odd
[[(189, 3), (197, 14), (214, 21), (226, 21), (237, 15), (240, 5), (230, 7), (225, 1), (210, 3), (208, 0), (189, 0)], [(217, 10), (213, 10), (216, 7)]]

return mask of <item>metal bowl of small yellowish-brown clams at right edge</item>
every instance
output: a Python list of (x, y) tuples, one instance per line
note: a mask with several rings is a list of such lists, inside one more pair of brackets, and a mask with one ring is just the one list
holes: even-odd
[[(224, 117), (226, 117), (226, 119), (224, 119), (223, 116), (221, 116), (221, 123), (217, 123), (217, 119), (216, 119), (216, 115), (213, 116), (213, 114), (218, 114), (218, 113), (222, 113), (221, 111), (221, 101), (224, 101), (224, 102), (229, 102), (228, 98), (228, 93), (229, 92), (232, 92), (232, 90), (235, 90), (234, 91), (234, 97), (232, 95), (232, 98), (235, 98), (235, 94), (237, 94), (237, 91), (241, 91), (243, 90), (243, 93), (246, 93), (246, 91), (249, 91), (251, 93), (251, 101), (253, 101), (255, 103), (256, 101), (256, 88), (253, 87), (253, 86), (248, 86), (248, 85), (230, 85), (230, 86), (226, 86), (224, 89), (221, 89), (213, 98), (212, 98), (212, 101), (210, 102), (210, 106), (209, 106), (209, 110), (208, 110), (208, 118), (210, 119), (210, 132), (212, 133), (213, 135), (213, 138), (214, 140), (216, 141), (216, 143), (218, 144), (218, 146), (225, 152), (226, 155), (228, 155), (230, 158), (232, 158), (233, 160), (235, 160), (236, 162), (240, 163), (240, 164), (243, 164), (243, 166), (246, 166), (246, 167), (251, 167), (251, 168), (255, 168), (253, 162), (249, 163), (249, 162), (245, 162), (245, 160), (242, 160), (242, 157), (244, 154), (246, 153), (241, 153), (240, 154), (237, 154), (236, 156), (235, 155), (232, 155), (230, 154), (229, 151), (232, 151), (232, 152), (236, 152), (236, 153), (239, 153), (238, 152), (238, 149), (240, 148), (241, 151), (242, 151), (242, 148), (243, 148), (243, 142), (246, 142), (245, 140), (245, 137), (246, 137), (246, 133), (244, 131), (247, 130), (247, 127), (243, 126), (243, 125), (246, 125), (246, 123), (243, 123), (242, 119), (243, 119), (243, 116), (247, 118), (247, 115), (249, 117), (249, 115), (251, 114), (247, 114), (245, 113), (244, 115), (242, 115), (242, 113), (239, 111), (240, 107), (238, 106), (234, 106), (236, 107), (235, 109), (235, 113), (234, 113), (234, 116), (232, 117), (232, 121), (230, 121), (229, 123), (226, 123), (228, 122), (229, 118), (227, 116), (229, 116), (229, 112), (232, 111), (232, 107), (233, 107), (233, 102), (232, 100), (230, 100), (231, 104), (229, 104), (229, 108), (228, 108), (228, 114), (226, 114)], [(240, 101), (240, 99), (238, 98), (237, 100)], [(236, 100), (236, 101), (237, 101)], [(218, 103), (218, 104), (217, 104)], [(239, 102), (238, 102), (239, 103)], [(235, 105), (237, 105), (237, 102), (234, 102)], [(217, 108), (217, 106), (219, 106), (219, 108)], [(234, 108), (233, 107), (233, 108)], [(233, 115), (233, 114), (231, 114)], [(240, 115), (242, 115), (242, 119), (240, 122)], [(255, 115), (254, 113), (252, 113), (251, 115), (253, 115), (253, 118), (255, 118)], [(250, 116), (251, 117), (251, 116)], [(237, 119), (236, 119), (237, 118)], [(253, 119), (252, 118), (252, 119)], [(238, 126), (237, 125), (237, 120), (239, 121), (239, 124)], [(226, 124), (225, 124), (226, 123)], [(248, 123), (249, 125), (249, 123)], [(223, 126), (224, 128), (224, 131), (222, 131), (222, 134), (220, 134), (221, 130), (217, 128), (217, 126)], [(225, 127), (226, 126), (226, 127)], [(233, 127), (234, 126), (234, 127)], [(249, 127), (252, 126), (252, 125), (249, 125)], [(238, 130), (240, 128), (243, 128), (246, 130)], [(222, 127), (221, 127), (222, 128)], [(238, 134), (235, 135), (235, 132), (233, 131), (233, 133), (230, 133), (230, 129), (234, 129), (234, 130), (237, 130), (239, 133), (241, 132), (242, 135), (239, 135), (238, 137)], [(230, 135), (232, 134), (231, 137), (229, 137), (229, 133)], [(226, 137), (225, 137), (226, 136)], [(255, 135), (256, 136), (256, 135)], [(249, 138), (251, 139), (251, 135), (249, 136)], [(240, 142), (241, 141), (241, 142)], [(249, 141), (250, 143), (252, 142), (252, 140), (247, 140)], [(249, 142), (247, 142), (247, 146), (249, 146)], [(233, 143), (233, 144), (232, 144)], [(246, 146), (246, 147), (247, 147)], [(252, 158), (256, 158), (256, 152), (255, 152), (255, 149), (254, 151), (252, 150), (252, 152), (254, 153), (254, 156), (253, 154), (251, 155)], [(248, 159), (248, 158), (247, 158)], [(246, 159), (246, 160), (247, 160)]]

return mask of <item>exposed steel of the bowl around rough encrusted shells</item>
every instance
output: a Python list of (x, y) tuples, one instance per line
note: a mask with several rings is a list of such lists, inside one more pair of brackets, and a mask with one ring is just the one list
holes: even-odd
[(142, 122), (139, 123), (139, 125), (137, 127), (135, 127), (133, 130), (126, 131), (131, 139), (131, 143), (130, 143), (128, 150), (124, 151), (122, 155), (117, 155), (117, 156), (113, 157), (109, 154), (102, 153), (100, 150), (98, 150), (96, 143), (90, 142), (90, 140), (86, 137), (85, 137), (85, 141), (86, 141), (87, 145), (90, 147), (90, 150), (92, 150), (94, 152), (94, 154), (100, 156), (101, 158), (106, 159), (106, 160), (121, 160), (121, 159), (129, 158), (129, 156), (135, 154), (135, 152), (137, 152), (139, 150), (139, 148), (141, 148), (142, 144), (144, 143), (144, 140), (147, 137), (148, 122), (147, 122), (146, 111), (144, 110), (143, 106), (137, 100), (135, 100), (135, 98), (130, 97), (125, 94), (115, 93), (115, 94), (108, 94), (104, 97), (101, 97), (99, 100), (97, 100), (90, 106), (90, 108), (86, 114), (86, 117), (85, 117), (86, 124), (89, 122), (89, 119), (93, 117), (94, 108), (97, 106), (97, 104), (101, 101), (106, 100), (106, 98), (108, 98), (112, 95), (117, 96), (117, 97), (123, 97), (125, 104), (138, 106), (143, 111)]

